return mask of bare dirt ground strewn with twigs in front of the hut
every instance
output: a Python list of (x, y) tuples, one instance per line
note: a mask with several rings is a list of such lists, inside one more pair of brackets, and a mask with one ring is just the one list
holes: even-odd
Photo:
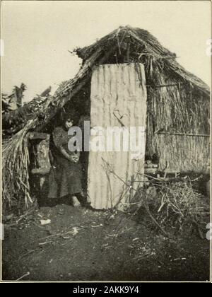
[(209, 241), (195, 233), (171, 240), (120, 212), (43, 206), (5, 225), (3, 279), (206, 281)]

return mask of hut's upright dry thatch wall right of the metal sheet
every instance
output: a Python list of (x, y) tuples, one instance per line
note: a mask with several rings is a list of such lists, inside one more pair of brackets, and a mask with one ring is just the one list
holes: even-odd
[(159, 169), (203, 172), (209, 162), (209, 98), (188, 81), (168, 76), (157, 64), (148, 77), (146, 154)]

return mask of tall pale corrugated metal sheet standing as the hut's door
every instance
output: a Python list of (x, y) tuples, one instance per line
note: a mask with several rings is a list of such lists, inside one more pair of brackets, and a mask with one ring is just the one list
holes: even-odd
[[(90, 102), (90, 127), (100, 126), (106, 129), (122, 127), (124, 124), (127, 129), (146, 129), (146, 81), (143, 65), (98, 66), (92, 76)], [(88, 194), (93, 208), (110, 209), (117, 204), (129, 203), (135, 193), (132, 188), (139, 186), (139, 182), (131, 183), (131, 180), (138, 180), (138, 171), (143, 173), (145, 132), (141, 142), (143, 158), (139, 161), (131, 159), (131, 151), (90, 151)]]

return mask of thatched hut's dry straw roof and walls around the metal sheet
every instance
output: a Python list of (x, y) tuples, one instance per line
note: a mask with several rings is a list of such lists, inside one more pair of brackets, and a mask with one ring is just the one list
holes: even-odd
[(83, 105), (90, 101), (91, 77), (102, 64), (143, 64), (146, 156), (156, 155), (160, 170), (205, 170), (209, 161), (209, 88), (178, 64), (175, 53), (160, 45), (148, 31), (131, 27), (120, 27), (74, 52), (83, 63), (73, 79), (61, 83), (54, 96), (35, 98), (16, 114), (10, 112), (3, 117), (3, 192), (8, 206), (13, 202), (33, 203), (29, 132), (50, 133), (62, 109), (75, 107), (81, 115), (86, 113)]

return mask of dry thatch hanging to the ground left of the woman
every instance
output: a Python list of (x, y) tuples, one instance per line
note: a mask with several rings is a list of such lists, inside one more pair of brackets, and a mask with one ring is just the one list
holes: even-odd
[(33, 204), (29, 182), (29, 134), (36, 120), (30, 120), (18, 133), (3, 141), (2, 184), (3, 210), (23, 211)]

